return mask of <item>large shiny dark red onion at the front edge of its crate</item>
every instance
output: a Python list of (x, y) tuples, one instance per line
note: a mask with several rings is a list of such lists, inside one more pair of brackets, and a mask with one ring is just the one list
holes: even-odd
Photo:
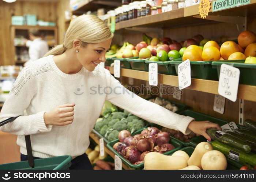
[(138, 162), (140, 160), (141, 153), (137, 148), (133, 146), (128, 146), (125, 147), (125, 149), (122, 152), (122, 155), (125, 159), (134, 164), (135, 162)]

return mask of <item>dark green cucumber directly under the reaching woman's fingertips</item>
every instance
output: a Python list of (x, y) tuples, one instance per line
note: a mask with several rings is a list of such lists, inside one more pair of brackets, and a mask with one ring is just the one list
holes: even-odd
[(213, 140), (223, 142), (226, 145), (229, 145), (230, 147), (234, 147), (234, 148), (241, 150), (245, 153), (248, 153), (252, 150), (251, 146), (248, 143), (246, 143), (245, 141), (243, 141), (242, 139), (234, 137), (233, 135), (227, 134), (223, 131), (219, 131), (216, 128), (209, 128), (209, 129), (207, 129), (206, 132), (208, 135), (210, 135), (210, 137)]

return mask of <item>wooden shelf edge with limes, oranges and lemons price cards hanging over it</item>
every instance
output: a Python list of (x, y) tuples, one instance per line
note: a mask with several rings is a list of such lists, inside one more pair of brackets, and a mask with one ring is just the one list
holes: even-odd
[[(114, 74), (113, 67), (110, 67), (109, 71), (111, 74)], [(148, 72), (146, 71), (121, 68), (120, 75), (148, 81)], [(158, 83), (178, 87), (178, 76), (158, 74)], [(186, 89), (218, 94), (218, 85), (218, 81), (192, 78), (191, 86)], [(237, 98), (256, 102), (256, 86), (239, 84)]]

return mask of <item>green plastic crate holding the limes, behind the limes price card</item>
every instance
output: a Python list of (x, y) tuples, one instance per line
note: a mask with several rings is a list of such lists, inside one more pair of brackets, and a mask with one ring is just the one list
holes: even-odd
[(172, 61), (145, 61), (147, 68), (150, 63), (157, 63), (157, 71), (159, 74), (165, 74), (165, 75), (176, 75), (176, 70), (173, 64), (171, 64)]

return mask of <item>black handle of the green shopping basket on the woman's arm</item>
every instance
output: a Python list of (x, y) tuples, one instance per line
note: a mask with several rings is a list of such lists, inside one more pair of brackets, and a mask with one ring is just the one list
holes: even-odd
[[(22, 116), (22, 115), (19, 115), (19, 116)], [(4, 121), (0, 122), (0, 126), (3, 126), (4, 124), (7, 124), (7, 123), (10, 123), (10, 122), (14, 121), (19, 116), (5, 119)], [(26, 141), (27, 158), (28, 158), (28, 161), (29, 161), (29, 166), (34, 168), (34, 159), (33, 159), (30, 135), (25, 136), (25, 141)]]

